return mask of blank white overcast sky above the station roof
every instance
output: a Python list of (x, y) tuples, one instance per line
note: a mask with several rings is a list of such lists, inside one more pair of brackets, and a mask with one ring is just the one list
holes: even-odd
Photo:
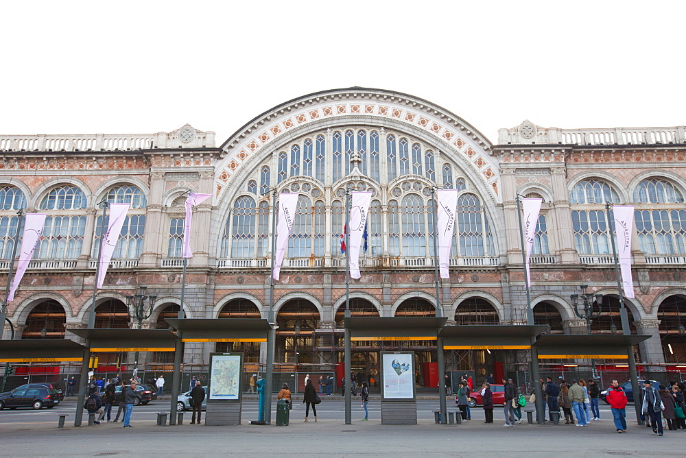
[(686, 124), (686, 1), (3, 1), (0, 135), (152, 133), (217, 145), (283, 101), (364, 86), (497, 141)]

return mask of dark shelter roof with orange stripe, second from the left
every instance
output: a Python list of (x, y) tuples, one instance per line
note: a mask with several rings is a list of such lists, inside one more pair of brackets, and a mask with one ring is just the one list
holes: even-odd
[(167, 329), (68, 329), (91, 341), (91, 352), (173, 352), (178, 337)]

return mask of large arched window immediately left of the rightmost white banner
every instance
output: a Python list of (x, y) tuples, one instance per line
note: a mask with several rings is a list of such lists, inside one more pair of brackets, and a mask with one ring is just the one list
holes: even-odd
[(584, 180), (569, 194), (574, 242), (579, 254), (609, 254), (606, 202), (619, 203), (619, 196), (606, 182)]

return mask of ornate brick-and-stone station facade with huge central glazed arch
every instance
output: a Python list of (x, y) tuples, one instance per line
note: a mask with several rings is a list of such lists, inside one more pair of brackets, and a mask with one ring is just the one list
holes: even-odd
[[(279, 104), (218, 144), (213, 132), (121, 135), (0, 135), (0, 265), (7, 280), (19, 208), (46, 213), (33, 261), (8, 317), (15, 339), (64, 338), (84, 328), (102, 224), (99, 202), (130, 203), (104, 287), (96, 328), (168, 328), (181, 288), (188, 190), (213, 194), (194, 210), (189, 318), (267, 317), (273, 304), (276, 363), (333, 367), (343, 361), (346, 189), (371, 191), (362, 278), (351, 281), (353, 316), (434, 316), (431, 189), (459, 189), (450, 278), (440, 282), (448, 324), (525, 324), (517, 195), (541, 197), (531, 256), (536, 324), (584, 334), (571, 296), (602, 293), (591, 333), (622, 333), (606, 204), (635, 206), (632, 333), (646, 372), (686, 367), (686, 134), (683, 126), (572, 130), (523, 121), (493, 143), (430, 101), (372, 88), (322, 91)], [(270, 299), (272, 194), (299, 193), (281, 279)], [(130, 298), (146, 287), (143, 313)], [(154, 296), (147, 298), (147, 296)], [(66, 333), (67, 338), (75, 336)], [(10, 338), (5, 326), (4, 339)], [(379, 352), (436, 361), (435, 341), (356, 341), (353, 370), (374, 373)], [(202, 370), (214, 351), (265, 360), (264, 344), (185, 343), (185, 367)], [(447, 351), (447, 370), (517, 370), (507, 350)], [(99, 363), (133, 354), (99, 354)], [(145, 352), (164, 370), (173, 355)], [(543, 370), (543, 369), (542, 369)]]

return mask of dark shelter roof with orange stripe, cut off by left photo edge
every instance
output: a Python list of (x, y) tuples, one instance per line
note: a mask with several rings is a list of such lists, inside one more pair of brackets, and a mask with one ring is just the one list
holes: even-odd
[(69, 339), (0, 340), (0, 362), (82, 361), (84, 349), (80, 343)]

